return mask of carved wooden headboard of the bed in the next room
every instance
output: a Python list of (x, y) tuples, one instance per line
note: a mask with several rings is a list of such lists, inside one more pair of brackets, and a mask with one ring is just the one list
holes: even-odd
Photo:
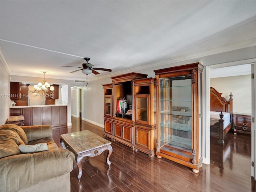
[(230, 98), (227, 101), (226, 98), (222, 97), (216, 89), (211, 87), (211, 111), (222, 111), (232, 114), (233, 112), (233, 95), (230, 92)]

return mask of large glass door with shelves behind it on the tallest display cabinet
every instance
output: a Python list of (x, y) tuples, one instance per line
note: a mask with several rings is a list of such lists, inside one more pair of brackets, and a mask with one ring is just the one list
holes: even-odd
[(192, 154), (191, 75), (159, 78), (160, 151), (190, 160)]

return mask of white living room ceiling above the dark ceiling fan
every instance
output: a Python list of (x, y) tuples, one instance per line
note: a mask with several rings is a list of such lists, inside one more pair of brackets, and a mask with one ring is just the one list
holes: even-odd
[(255, 0), (0, 0), (0, 56), (10, 75), (86, 79), (60, 67), (81, 67), (84, 57), (112, 69), (88, 75), (94, 80), (254, 46), (255, 10)]

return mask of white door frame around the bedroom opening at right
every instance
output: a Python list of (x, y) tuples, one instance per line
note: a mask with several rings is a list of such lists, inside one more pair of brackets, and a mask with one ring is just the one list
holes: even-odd
[[(205, 164), (210, 164), (210, 70), (216, 69), (216, 68), (223, 68), (223, 67), (230, 67), (230, 66), (236, 66), (236, 65), (243, 65), (243, 64), (252, 64), (254, 63), (256, 58), (247, 59), (247, 60), (239, 60), (234, 62), (227, 62), (227, 63), (221, 63), (221, 64), (215, 64), (206, 66), (206, 128), (205, 128)], [(254, 84), (254, 91), (256, 90), (256, 85)], [(252, 98), (253, 99), (253, 98)], [(255, 99), (255, 98), (254, 98)], [(256, 108), (256, 102), (254, 102), (254, 106), (252, 108)], [(253, 122), (255, 127), (255, 122)], [(252, 139), (254, 139), (254, 136), (252, 136)], [(252, 151), (255, 152), (254, 146), (252, 146)], [(254, 159), (256, 159), (256, 154), (254, 155)], [(254, 172), (255, 172), (255, 166), (254, 166)], [(254, 173), (251, 173), (254, 174)], [(255, 175), (255, 174), (254, 174)]]

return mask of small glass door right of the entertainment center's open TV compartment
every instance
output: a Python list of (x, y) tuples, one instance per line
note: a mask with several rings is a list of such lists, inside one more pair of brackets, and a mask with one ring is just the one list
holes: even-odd
[(136, 95), (136, 122), (148, 124), (148, 94)]

